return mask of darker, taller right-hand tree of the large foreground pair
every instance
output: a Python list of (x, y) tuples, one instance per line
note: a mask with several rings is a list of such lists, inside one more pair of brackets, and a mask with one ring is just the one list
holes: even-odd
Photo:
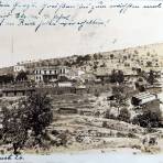
[(52, 108), (51, 98), (46, 94), (35, 93), (26, 99), (28, 123), (39, 144), (42, 144), (41, 139), (44, 135), (45, 128), (53, 121)]

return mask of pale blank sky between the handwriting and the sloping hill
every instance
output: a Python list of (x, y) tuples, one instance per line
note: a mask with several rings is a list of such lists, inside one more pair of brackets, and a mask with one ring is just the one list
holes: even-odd
[[(110, 3), (120, 2), (110, 0)], [(134, 3), (142, 2), (134, 1)], [(78, 18), (88, 17), (85, 11), (72, 10), (70, 12)], [(84, 28), (79, 32), (75, 28), (43, 26), (35, 33), (33, 26), (0, 26), (0, 67), (22, 61), (162, 43), (162, 8), (129, 9), (124, 14), (119, 14), (118, 9), (99, 9), (94, 11), (91, 17), (109, 20), (108, 23), (104, 26)]]

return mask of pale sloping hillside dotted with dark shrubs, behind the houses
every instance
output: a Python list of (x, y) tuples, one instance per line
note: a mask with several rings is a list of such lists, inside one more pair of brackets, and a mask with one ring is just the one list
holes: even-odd
[[(160, 69), (160, 67), (163, 67), (163, 43), (87, 55), (48, 58), (34, 63), (29, 62), (21, 64), (25, 65), (28, 69), (33, 69), (37, 66), (67, 65), (75, 69), (79, 68), (87, 73), (96, 72), (99, 74), (108, 73), (113, 68), (124, 69), (127, 72), (130, 72), (132, 67)], [(11, 72), (12, 67), (0, 69), (0, 74)]]

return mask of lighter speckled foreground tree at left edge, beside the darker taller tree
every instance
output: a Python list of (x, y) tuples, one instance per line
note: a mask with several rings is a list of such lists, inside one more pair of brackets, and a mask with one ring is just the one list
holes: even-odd
[(28, 129), (25, 123), (25, 115), (20, 106), (18, 108), (2, 108), (2, 140), (4, 143), (11, 143), (13, 153), (19, 154), (19, 149), (22, 149), (28, 140)]

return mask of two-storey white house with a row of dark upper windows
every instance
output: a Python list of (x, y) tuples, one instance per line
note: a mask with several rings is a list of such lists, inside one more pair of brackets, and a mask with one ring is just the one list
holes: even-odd
[(34, 69), (35, 82), (53, 82), (59, 76), (68, 77), (70, 68), (67, 66), (46, 66)]

